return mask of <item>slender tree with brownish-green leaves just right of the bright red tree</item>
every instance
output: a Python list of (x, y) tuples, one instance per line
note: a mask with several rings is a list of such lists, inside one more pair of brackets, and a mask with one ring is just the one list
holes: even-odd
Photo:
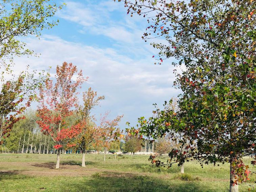
[(98, 137), (98, 129), (92, 121), (93, 117), (90, 116), (91, 110), (103, 100), (104, 96), (97, 97), (97, 92), (89, 88), (88, 91), (83, 93), (83, 105), (77, 111), (77, 118), (83, 124), (81, 132), (75, 139), (78, 148), (82, 151), (82, 167), (86, 166), (86, 150), (90, 147), (91, 143)]

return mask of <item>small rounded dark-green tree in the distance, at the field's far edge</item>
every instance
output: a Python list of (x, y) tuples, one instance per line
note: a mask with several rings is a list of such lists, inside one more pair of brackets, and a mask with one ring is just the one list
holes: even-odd
[(141, 148), (142, 141), (134, 135), (125, 136), (124, 151), (131, 152), (133, 155)]

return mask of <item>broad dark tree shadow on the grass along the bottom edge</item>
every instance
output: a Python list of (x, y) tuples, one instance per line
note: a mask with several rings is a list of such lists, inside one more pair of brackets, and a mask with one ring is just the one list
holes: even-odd
[[(67, 187), (67, 188), (66, 188)], [(61, 191), (108, 191), (108, 192), (199, 192), (203, 191), (197, 182), (161, 180), (155, 177), (133, 173), (101, 172), (95, 173), (84, 182), (61, 185)]]

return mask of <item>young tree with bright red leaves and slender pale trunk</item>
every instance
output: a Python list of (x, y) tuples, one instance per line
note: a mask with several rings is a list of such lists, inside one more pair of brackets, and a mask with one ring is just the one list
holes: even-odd
[(76, 73), (76, 66), (63, 62), (62, 66), (56, 68), (56, 83), (53, 84), (53, 80), (48, 79), (45, 88), (41, 87), (39, 93), (37, 112), (40, 120), (37, 123), (41, 127), (41, 132), (50, 135), (56, 144), (56, 168), (59, 168), (60, 150), (80, 133), (82, 126), (80, 122), (67, 122), (67, 118), (73, 115), (77, 107), (77, 89), (87, 80), (80, 71), (73, 81)]

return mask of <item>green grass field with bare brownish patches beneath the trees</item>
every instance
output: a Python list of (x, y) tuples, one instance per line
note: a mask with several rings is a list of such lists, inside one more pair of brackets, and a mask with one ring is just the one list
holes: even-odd
[[(180, 168), (156, 167), (148, 156), (87, 155), (86, 167), (80, 166), (79, 154), (61, 154), (60, 168), (55, 169), (56, 155), (0, 154), (0, 191), (228, 191), (229, 165), (185, 163)], [(246, 158), (249, 162), (250, 159)], [(255, 167), (250, 167), (255, 171)], [(249, 184), (255, 184), (252, 176)], [(246, 184), (240, 191), (256, 191)], [(256, 188), (256, 186), (255, 186)]]

